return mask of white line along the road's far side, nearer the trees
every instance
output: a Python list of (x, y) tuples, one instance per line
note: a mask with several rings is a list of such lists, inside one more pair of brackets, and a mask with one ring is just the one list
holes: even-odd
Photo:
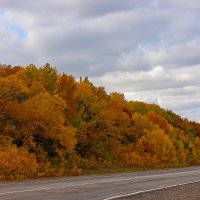
[(73, 185), (70, 185), (70, 183), (69, 183), (67, 185), (60, 185), (60, 186), (53, 186), (53, 187), (43, 187), (43, 188), (35, 188), (35, 189), (27, 189), (27, 190), (15, 190), (15, 191), (0, 192), (0, 195), (13, 194), (13, 193), (35, 192), (35, 191), (43, 191), (43, 190), (51, 190), (51, 189), (61, 189), (61, 188), (66, 188), (66, 187), (112, 183), (112, 182), (119, 182), (119, 181), (129, 181), (129, 180), (143, 179), (143, 178), (183, 175), (183, 174), (190, 174), (190, 173), (197, 173), (197, 172), (200, 173), (200, 170), (187, 171), (187, 172), (176, 172), (176, 173), (172, 172), (172, 173), (166, 173), (166, 174), (154, 174), (154, 175), (145, 175), (145, 176), (135, 176), (132, 178), (108, 179), (108, 180), (104, 180), (104, 181), (92, 181), (92, 182), (79, 183), (79, 184), (73, 184)]

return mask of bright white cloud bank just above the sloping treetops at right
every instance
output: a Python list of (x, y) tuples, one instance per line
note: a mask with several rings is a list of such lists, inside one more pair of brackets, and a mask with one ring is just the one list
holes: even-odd
[(155, 66), (148, 71), (109, 72), (92, 81), (96, 85), (104, 83), (108, 92), (124, 93), (128, 100), (156, 103), (199, 120), (194, 114), (200, 108), (199, 73), (200, 65), (169, 69)]

